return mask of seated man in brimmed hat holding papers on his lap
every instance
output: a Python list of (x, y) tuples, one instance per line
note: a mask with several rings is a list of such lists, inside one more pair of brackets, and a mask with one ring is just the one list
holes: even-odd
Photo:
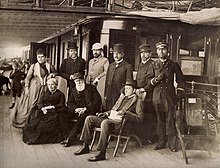
[[(124, 131), (132, 130), (143, 118), (143, 104), (135, 94), (134, 82), (126, 82), (124, 94), (121, 94), (112, 110), (117, 111), (118, 115), (127, 119)], [(85, 120), (80, 140), (84, 142), (83, 147), (75, 152), (75, 155), (89, 153), (89, 144), (94, 127), (101, 127), (99, 142), (97, 145), (98, 155), (88, 159), (89, 161), (105, 160), (107, 141), (109, 134), (114, 130), (119, 130), (121, 121), (107, 118), (111, 111), (99, 113), (98, 116), (88, 116)]]

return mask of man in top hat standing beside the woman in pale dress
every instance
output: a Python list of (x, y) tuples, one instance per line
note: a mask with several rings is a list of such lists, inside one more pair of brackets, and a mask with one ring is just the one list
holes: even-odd
[(75, 87), (73, 74), (76, 72), (84, 74), (86, 63), (83, 58), (77, 56), (77, 45), (75, 42), (68, 42), (67, 51), (68, 58), (62, 62), (59, 75), (67, 80), (67, 87), (69, 87), (68, 96), (70, 96), (70, 92)]

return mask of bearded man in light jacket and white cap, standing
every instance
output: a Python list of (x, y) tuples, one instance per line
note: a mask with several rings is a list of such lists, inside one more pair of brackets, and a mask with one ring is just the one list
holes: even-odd
[(92, 53), (94, 58), (89, 61), (86, 83), (97, 85), (99, 80), (106, 75), (109, 61), (104, 57), (100, 43), (93, 44)]

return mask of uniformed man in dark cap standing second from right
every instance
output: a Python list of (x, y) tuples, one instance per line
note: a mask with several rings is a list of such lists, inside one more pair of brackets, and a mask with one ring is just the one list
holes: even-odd
[(146, 88), (148, 84), (148, 72), (150, 65), (154, 62), (151, 59), (151, 48), (149, 44), (143, 44), (139, 47), (141, 62), (137, 70), (137, 94), (144, 96), (144, 119), (142, 124), (142, 138), (143, 143), (151, 143), (153, 141), (153, 126), (156, 123), (154, 107), (152, 103), (153, 92), (146, 95)]

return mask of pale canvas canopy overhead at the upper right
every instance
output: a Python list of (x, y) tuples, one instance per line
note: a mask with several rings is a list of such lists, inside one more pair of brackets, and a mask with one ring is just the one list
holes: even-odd
[(203, 9), (201, 11), (177, 13), (167, 11), (139, 10), (130, 11), (127, 14), (154, 17), (166, 20), (180, 20), (184, 23), (220, 26), (220, 8)]

